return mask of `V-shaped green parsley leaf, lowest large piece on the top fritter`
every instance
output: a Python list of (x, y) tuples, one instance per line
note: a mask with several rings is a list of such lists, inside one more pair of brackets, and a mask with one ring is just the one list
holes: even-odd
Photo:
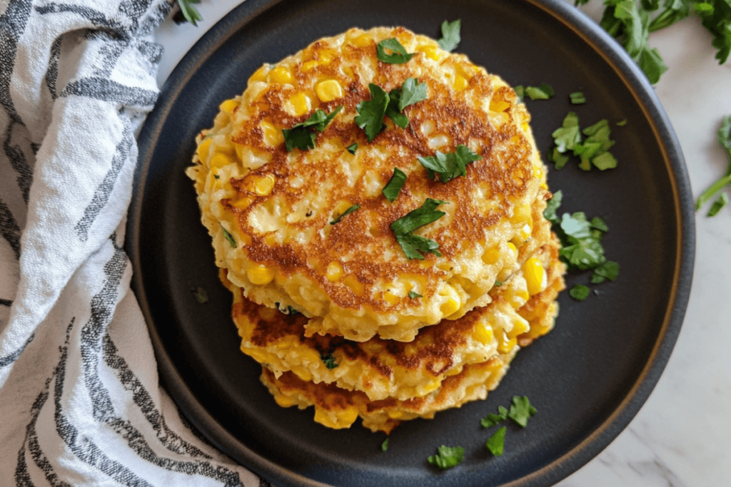
[(420, 252), (433, 253), (437, 257), (442, 256), (442, 253), (437, 250), (439, 244), (434, 240), (412, 234), (412, 231), (446, 215), (446, 213), (436, 210), (436, 207), (440, 204), (448, 203), (440, 199), (427, 198), (421, 207), (406, 213), (406, 215), (391, 223), (391, 230), (396, 236), (396, 242), (401, 245), (401, 249), (404, 250), (404, 254), (409, 260), (414, 258), (423, 260), (424, 256)]

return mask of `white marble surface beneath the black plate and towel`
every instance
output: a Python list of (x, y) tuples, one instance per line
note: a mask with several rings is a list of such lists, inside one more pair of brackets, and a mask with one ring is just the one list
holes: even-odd
[[(239, 3), (203, 0), (198, 27), (168, 21), (160, 28), (161, 85), (197, 39)], [(585, 12), (598, 19), (601, 3), (594, 0)], [(731, 115), (731, 61), (716, 63), (711, 36), (696, 18), (652, 34), (651, 45), (670, 67), (656, 91), (697, 196), (727, 166), (716, 131), (721, 117)], [(629, 427), (558, 487), (731, 485), (731, 205), (715, 218), (699, 213), (696, 231), (690, 304), (662, 378)]]

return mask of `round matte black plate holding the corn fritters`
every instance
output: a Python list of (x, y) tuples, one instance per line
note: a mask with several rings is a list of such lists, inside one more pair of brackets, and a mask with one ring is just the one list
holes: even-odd
[[(356, 424), (334, 431), (313, 411), (276, 406), (260, 367), (238, 350), (231, 298), (183, 175), (194, 136), (219, 103), (240, 93), (264, 62), (276, 62), (352, 26), (401, 25), (433, 37), (462, 19), (459, 52), (512, 85), (550, 83), (556, 99), (528, 101), (543, 153), (567, 111), (584, 126), (613, 127), (618, 169), (551, 169), (563, 211), (602, 215), (616, 283), (575, 302), (562, 294), (556, 329), (521, 351), (486, 402), (408, 421), (383, 434)], [(588, 103), (568, 94), (583, 89)], [(167, 80), (140, 134), (140, 166), (127, 250), (133, 288), (148, 322), (160, 374), (183, 412), (215, 445), (278, 486), (548, 486), (575, 471), (629, 423), (659, 379), (681, 328), (694, 258), (692, 198), (670, 123), (643, 74), (591, 20), (556, 0), (246, 0), (193, 47)], [(571, 276), (569, 286), (587, 283)], [(210, 301), (198, 304), (191, 288)], [(480, 418), (514, 394), (539, 413), (510, 426), (504, 456), (485, 449)], [(426, 457), (462, 445), (466, 459), (439, 472)]]

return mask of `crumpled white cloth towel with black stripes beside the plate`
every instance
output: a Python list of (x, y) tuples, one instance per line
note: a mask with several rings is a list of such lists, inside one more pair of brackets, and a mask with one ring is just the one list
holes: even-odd
[(0, 0), (0, 486), (268, 485), (159, 387), (122, 249), (173, 0)]

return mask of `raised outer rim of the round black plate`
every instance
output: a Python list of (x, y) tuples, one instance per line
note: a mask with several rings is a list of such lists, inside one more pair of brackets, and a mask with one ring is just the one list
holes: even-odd
[[(275, 7), (282, 0), (246, 0), (235, 7), (221, 20), (214, 24), (183, 56), (181, 61), (160, 90), (159, 99), (154, 110), (145, 120), (140, 135), (137, 137), (139, 156), (135, 168), (132, 202), (129, 206), (126, 223), (126, 239), (124, 248), (132, 263), (133, 275), (132, 291), (135, 292), (140, 309), (145, 317), (150, 339), (154, 348), (155, 358), (162, 386), (170, 393), (171, 398), (186, 415), (186, 418), (202, 432), (202, 434), (216, 446), (234, 459), (246, 459), (243, 466), (273, 480), (278, 485), (330, 487), (317, 480), (306, 478), (303, 475), (281, 467), (258, 453), (255, 453), (243, 442), (233, 437), (221, 424), (216, 421), (208, 410), (197, 401), (190, 388), (183, 382), (181, 374), (173, 364), (170, 355), (162, 345), (151, 317), (150, 305), (144, 292), (142, 266), (140, 264), (140, 219), (141, 207), (144, 198), (143, 188), (147, 179), (154, 140), (162, 129), (167, 113), (178, 98), (178, 93), (209, 55), (222, 45), (238, 26), (246, 25), (262, 12)], [(474, 0), (479, 1), (479, 0)], [(630, 58), (616, 39), (610, 37), (603, 28), (586, 14), (564, 0), (523, 0), (528, 4), (541, 9), (545, 15), (558, 20), (577, 37), (583, 40), (594, 52), (604, 58), (607, 66), (622, 80), (625, 87), (635, 99), (637, 107), (643, 113), (648, 126), (651, 127), (659, 150), (670, 176), (673, 188), (673, 202), (675, 202), (675, 225), (678, 228), (677, 253), (675, 256), (675, 272), (673, 285), (667, 302), (664, 320), (654, 347), (649, 353), (648, 361), (632, 388), (618, 404), (613, 413), (586, 438), (568, 450), (558, 459), (541, 469), (532, 472), (518, 480), (504, 484), (504, 487), (532, 487), (548, 485), (545, 482), (556, 483), (575, 472), (584, 464), (594, 459), (637, 415), (645, 404), (658, 382), (662, 372), (670, 359), (675, 342), (680, 334), (683, 318), (689, 302), (690, 288), (693, 280), (695, 258), (695, 223), (692, 191), (688, 170), (683, 158), (680, 142), (670, 123), (662, 104), (654, 92), (651, 84), (635, 61)], [(142, 190), (141, 190), (142, 188)]]

